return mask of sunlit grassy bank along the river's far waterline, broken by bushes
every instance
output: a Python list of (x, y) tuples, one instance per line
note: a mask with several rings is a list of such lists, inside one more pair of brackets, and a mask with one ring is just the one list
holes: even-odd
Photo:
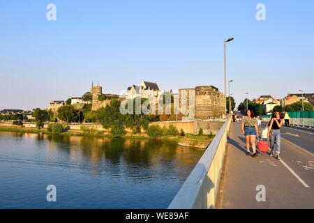
[[(37, 134), (53, 134), (52, 132), (48, 132), (45, 129), (37, 129), (37, 128), (26, 128), (19, 126), (0, 126), (0, 132), (18, 132), (18, 133), (37, 133)], [(112, 134), (107, 132), (97, 131), (94, 133), (91, 132), (83, 132), (80, 130), (68, 130), (66, 132), (62, 132), (61, 135), (64, 136), (80, 136), (80, 137), (108, 137), (113, 138)], [(126, 134), (122, 139), (150, 139), (147, 134)], [(207, 148), (210, 144), (211, 140), (214, 138), (214, 135), (194, 135), (194, 134), (186, 134), (184, 137), (181, 136), (165, 136), (158, 139), (158, 141), (167, 141), (177, 143), (180, 146), (188, 146), (194, 148)]]

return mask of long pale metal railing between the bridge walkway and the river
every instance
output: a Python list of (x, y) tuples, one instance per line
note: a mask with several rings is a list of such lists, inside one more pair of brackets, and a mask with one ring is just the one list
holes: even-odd
[(231, 119), (217, 132), (168, 209), (215, 208), (230, 123)]

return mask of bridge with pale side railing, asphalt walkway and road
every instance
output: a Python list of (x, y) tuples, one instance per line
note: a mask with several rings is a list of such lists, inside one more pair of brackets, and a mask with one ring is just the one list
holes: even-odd
[(229, 120), (168, 208), (314, 208), (314, 132), (283, 127), (281, 159), (247, 156), (241, 123)]

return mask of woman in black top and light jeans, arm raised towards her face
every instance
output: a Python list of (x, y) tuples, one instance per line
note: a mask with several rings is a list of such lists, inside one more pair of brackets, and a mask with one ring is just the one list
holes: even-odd
[(269, 153), (270, 156), (273, 156), (273, 151), (275, 147), (275, 140), (276, 140), (276, 155), (277, 159), (281, 160), (279, 154), (281, 153), (281, 126), (283, 125), (283, 114), (281, 112), (275, 112), (275, 117), (271, 118), (271, 122), (269, 124), (268, 135), (271, 139), (271, 152)]

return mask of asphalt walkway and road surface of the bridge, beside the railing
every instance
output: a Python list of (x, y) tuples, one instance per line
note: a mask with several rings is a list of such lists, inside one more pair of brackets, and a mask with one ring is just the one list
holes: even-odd
[[(216, 208), (314, 208), (314, 157), (300, 149), (313, 150), (313, 132), (283, 128), (283, 139), (290, 141), (281, 141), (282, 160), (267, 153), (253, 158), (246, 155), (240, 125), (230, 127)], [(266, 201), (256, 199), (259, 185)]]

